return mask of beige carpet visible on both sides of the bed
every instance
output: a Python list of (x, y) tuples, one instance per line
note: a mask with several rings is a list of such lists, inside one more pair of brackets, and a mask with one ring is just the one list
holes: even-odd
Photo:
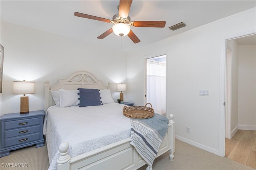
[[(205, 150), (193, 147), (187, 143), (175, 140), (176, 150), (174, 160), (170, 162), (168, 152), (156, 158), (153, 170), (255, 170), (249, 166), (235, 162), (226, 157), (220, 157)], [(9, 156), (0, 158), (1, 170), (47, 170), (49, 166), (46, 145), (36, 148), (26, 147), (12, 151)], [(19, 163), (27, 167), (4, 167), (5, 164)], [(139, 168), (145, 170), (146, 165)]]

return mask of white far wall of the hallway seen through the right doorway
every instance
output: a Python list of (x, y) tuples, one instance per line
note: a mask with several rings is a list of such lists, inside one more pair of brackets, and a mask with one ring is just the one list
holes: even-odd
[[(256, 129), (256, 46), (239, 45), (239, 129)], [(252, 129), (250, 129), (250, 127)]]

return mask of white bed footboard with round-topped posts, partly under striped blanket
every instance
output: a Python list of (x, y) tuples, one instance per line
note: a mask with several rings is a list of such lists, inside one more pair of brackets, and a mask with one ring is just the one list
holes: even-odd
[[(162, 145), (156, 157), (169, 151), (170, 161), (174, 158), (175, 151), (175, 131), (174, 116), (169, 115), (169, 127), (164, 136)], [(84, 154), (70, 158), (68, 155), (69, 144), (64, 142), (59, 146), (60, 157), (58, 158), (58, 170), (67, 169), (90, 169), (90, 170), (120, 170), (138, 169), (146, 162), (140, 157), (138, 152), (130, 145), (130, 138), (112, 143), (105, 147), (86, 152)]]

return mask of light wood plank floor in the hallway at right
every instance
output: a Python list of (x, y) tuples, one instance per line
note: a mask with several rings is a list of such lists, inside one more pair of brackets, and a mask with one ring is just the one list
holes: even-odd
[(226, 138), (225, 156), (256, 168), (256, 131), (238, 130), (232, 139)]

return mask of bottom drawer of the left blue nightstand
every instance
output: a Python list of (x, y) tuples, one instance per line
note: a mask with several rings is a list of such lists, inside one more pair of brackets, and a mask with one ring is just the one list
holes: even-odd
[(4, 147), (20, 145), (40, 139), (40, 133), (32, 133), (30, 135), (22, 135), (19, 137), (8, 138), (4, 140)]

